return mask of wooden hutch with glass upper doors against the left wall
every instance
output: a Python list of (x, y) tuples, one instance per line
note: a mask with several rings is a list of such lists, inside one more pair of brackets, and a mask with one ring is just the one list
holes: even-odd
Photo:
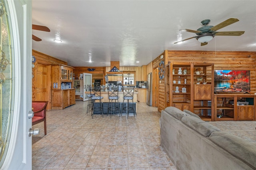
[(73, 69), (61, 64), (52, 66), (52, 109), (64, 109), (76, 104)]

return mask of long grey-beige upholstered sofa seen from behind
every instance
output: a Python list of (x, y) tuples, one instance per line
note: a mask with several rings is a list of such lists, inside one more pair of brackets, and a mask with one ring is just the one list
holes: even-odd
[(160, 119), (161, 145), (178, 170), (256, 170), (256, 145), (186, 112), (166, 107)]

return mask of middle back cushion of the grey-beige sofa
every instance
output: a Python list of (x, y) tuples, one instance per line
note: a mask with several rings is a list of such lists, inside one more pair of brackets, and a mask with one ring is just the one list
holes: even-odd
[(209, 137), (212, 132), (220, 131), (220, 129), (214, 125), (191, 115), (182, 117), (181, 121), (205, 137)]

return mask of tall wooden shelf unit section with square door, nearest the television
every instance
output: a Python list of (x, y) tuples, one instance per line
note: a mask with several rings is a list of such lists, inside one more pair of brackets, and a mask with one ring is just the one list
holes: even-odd
[(214, 121), (214, 64), (194, 64), (193, 70), (194, 107), (191, 111), (204, 121)]

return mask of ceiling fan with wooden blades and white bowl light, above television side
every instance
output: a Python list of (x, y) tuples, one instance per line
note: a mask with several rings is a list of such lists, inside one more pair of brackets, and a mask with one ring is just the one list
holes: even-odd
[(176, 43), (180, 43), (192, 38), (196, 38), (200, 43), (201, 46), (207, 45), (209, 41), (213, 39), (216, 35), (223, 35), (223, 36), (240, 36), (244, 34), (244, 31), (221, 31), (218, 32), (217, 30), (226, 27), (232, 23), (235, 23), (239, 21), (237, 18), (229, 18), (226, 21), (223, 21), (222, 23), (219, 23), (218, 25), (211, 26), (208, 25), (210, 20), (203, 20), (201, 21), (201, 24), (204, 25), (203, 27), (198, 28), (197, 30), (192, 30), (192, 29), (180, 29), (179, 31), (186, 31), (186, 32), (191, 32), (191, 33), (196, 33), (197, 36), (195, 37), (190, 37), (188, 39), (183, 39), (181, 41), (177, 41)]

